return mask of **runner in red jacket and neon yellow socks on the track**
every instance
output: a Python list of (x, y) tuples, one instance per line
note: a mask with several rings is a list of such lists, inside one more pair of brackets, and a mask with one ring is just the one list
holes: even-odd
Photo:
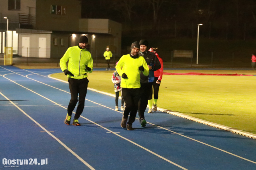
[[(153, 89), (154, 89), (154, 107), (153, 107), (153, 111), (157, 111), (157, 106), (156, 106), (156, 102), (157, 102), (157, 99), (158, 99), (158, 91), (159, 91), (159, 86), (160, 86), (160, 83), (161, 83), (161, 80), (162, 80), (162, 77), (163, 77), (163, 69), (164, 69), (164, 66), (163, 66), (163, 60), (162, 58), (160, 58), (158, 56), (158, 54), (156, 53), (156, 50), (157, 48), (150, 48), (148, 51), (151, 51), (153, 53), (156, 54), (160, 64), (161, 64), (161, 68), (154, 71), (154, 82), (153, 82)], [(149, 99), (148, 99), (148, 106), (149, 106), (149, 110), (147, 113), (152, 113), (152, 95), (153, 95), (153, 90), (151, 88), (151, 92), (150, 92), (150, 96), (149, 96)]]

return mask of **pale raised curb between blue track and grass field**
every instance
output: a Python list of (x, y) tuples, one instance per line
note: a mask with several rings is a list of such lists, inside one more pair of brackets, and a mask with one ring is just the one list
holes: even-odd
[[(55, 79), (55, 80), (58, 80), (58, 81), (62, 81), (62, 82), (68, 83), (67, 81), (64, 81), (64, 80), (61, 80), (61, 79), (57, 79), (57, 78), (54, 78), (54, 77), (50, 77), (50, 76), (51, 76), (51, 74), (48, 75), (48, 77), (51, 78), (51, 79)], [(102, 94), (105, 94), (105, 95), (109, 95), (109, 96), (115, 97), (115, 95), (111, 94), (111, 93), (107, 93), (107, 92), (96, 90), (96, 89), (89, 88), (89, 87), (88, 87), (88, 89), (92, 90), (92, 91), (95, 91), (97, 93), (102, 93)], [(121, 99), (120, 96), (119, 96), (119, 99)], [(194, 122), (202, 123), (202, 124), (205, 124), (205, 125), (208, 125), (208, 126), (216, 127), (216, 128), (219, 128), (219, 129), (223, 129), (223, 130), (227, 130), (227, 131), (230, 131), (230, 132), (233, 132), (233, 133), (237, 133), (239, 135), (243, 135), (243, 136), (246, 136), (246, 137), (249, 137), (249, 138), (256, 139), (256, 135), (255, 134), (249, 133), (249, 132), (246, 132), (246, 131), (243, 131), (243, 130), (239, 130), (239, 129), (235, 129), (235, 128), (232, 128), (232, 127), (220, 125), (220, 124), (217, 124), (217, 123), (212, 123), (212, 122), (209, 122), (209, 121), (206, 121), (206, 120), (202, 120), (202, 119), (199, 119), (199, 118), (196, 118), (196, 117), (193, 117), (193, 116), (188, 116), (188, 115), (183, 114), (183, 113), (173, 112), (173, 111), (170, 111), (170, 110), (166, 110), (164, 108), (157, 107), (157, 110), (161, 111), (161, 112), (168, 113), (168, 114), (172, 114), (172, 115), (175, 115), (175, 116), (179, 116), (179, 117), (182, 117), (182, 118), (185, 118), (185, 119), (193, 120)]]

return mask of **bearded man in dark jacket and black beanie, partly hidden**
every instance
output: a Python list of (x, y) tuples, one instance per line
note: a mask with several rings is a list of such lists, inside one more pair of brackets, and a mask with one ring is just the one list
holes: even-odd
[(139, 55), (144, 57), (149, 68), (148, 76), (144, 76), (142, 73), (140, 74), (141, 95), (138, 103), (138, 115), (140, 116), (139, 122), (142, 127), (145, 127), (147, 122), (144, 117), (144, 112), (147, 108), (148, 98), (150, 96), (151, 88), (153, 86), (153, 81), (155, 78), (154, 71), (160, 69), (161, 64), (157, 56), (155, 55), (155, 53), (148, 51), (147, 40), (141, 40), (139, 44), (140, 44)]

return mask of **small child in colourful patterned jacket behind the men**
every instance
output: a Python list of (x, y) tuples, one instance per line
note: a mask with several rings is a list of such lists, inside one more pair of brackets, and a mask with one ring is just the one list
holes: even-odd
[[(118, 62), (117, 62), (118, 63)], [(116, 65), (117, 65), (116, 63)], [(121, 91), (120, 83), (121, 83), (121, 76), (118, 74), (118, 72), (115, 70), (113, 72), (112, 76), (112, 82), (114, 83), (114, 90), (115, 90), (115, 111), (118, 111), (118, 98), (119, 98), (119, 92)], [(121, 111), (124, 110), (124, 100), (121, 95)]]

